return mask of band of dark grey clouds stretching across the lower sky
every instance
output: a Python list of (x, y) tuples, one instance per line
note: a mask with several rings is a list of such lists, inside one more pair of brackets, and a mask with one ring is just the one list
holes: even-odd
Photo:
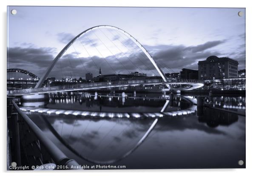
[[(70, 36), (64, 35), (63, 36)], [(80, 38), (85, 42), (86, 38)], [(128, 74), (128, 72), (139, 71), (147, 75), (159, 75), (151, 61), (145, 54), (126, 40), (129, 50), (127, 52), (115, 53), (106, 58), (94, 55), (91, 57), (81, 57), (82, 51), (78, 55), (76, 52), (64, 54), (49, 74), (49, 77), (82, 77), (85, 73), (91, 72), (97, 76), (101, 67), (102, 74)], [(198, 61), (205, 60), (210, 55), (228, 56), (239, 61), (239, 67), (245, 67), (245, 48), (240, 47), (237, 52), (230, 55), (217, 50), (210, 50), (212, 47), (222, 44), (225, 41), (208, 41), (197, 46), (186, 47), (184, 45), (156, 45), (145, 48), (151, 53), (159, 67), (166, 72), (179, 72), (182, 68), (198, 69)], [(82, 47), (82, 46), (81, 46)], [(87, 47), (87, 46), (85, 46)], [(51, 64), (55, 55), (55, 48), (34, 48), (34, 47), (12, 47), (8, 50), (9, 68), (20, 68), (31, 71), (40, 77)]]

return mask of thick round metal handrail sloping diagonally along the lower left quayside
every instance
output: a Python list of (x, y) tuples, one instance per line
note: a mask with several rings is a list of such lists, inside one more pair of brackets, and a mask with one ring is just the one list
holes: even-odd
[(57, 146), (55, 146), (55, 144), (48, 137), (46, 137), (42, 130), (36, 124), (34, 124), (34, 122), (22, 110), (20, 110), (14, 100), (11, 102), (57, 165), (67, 165), (69, 169), (71, 169), (71, 166), (73, 166), (73, 169), (80, 168), (80, 165), (75, 160), (68, 159), (68, 157)]

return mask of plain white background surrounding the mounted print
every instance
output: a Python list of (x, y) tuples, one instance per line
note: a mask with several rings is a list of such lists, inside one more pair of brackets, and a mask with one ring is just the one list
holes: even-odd
[[(7, 5), (64, 5), (64, 6), (167, 6), (167, 7), (235, 7), (235, 8), (246, 8), (246, 70), (247, 70), (247, 122), (246, 122), (246, 169), (187, 169), (187, 170), (85, 170), (83, 172), (79, 171), (55, 171), (54, 173), (70, 175), (75, 172), (75, 174), (81, 175), (99, 175), (104, 174), (108, 175), (141, 175), (145, 174), (147, 176), (154, 176), (158, 173), (161, 175), (170, 175), (170, 174), (179, 174), (186, 176), (216, 176), (216, 175), (232, 175), (232, 176), (241, 176), (241, 175), (253, 175), (255, 173), (255, 115), (253, 108), (253, 103), (255, 94), (253, 94), (253, 89), (255, 88), (253, 77), (255, 74), (253, 72), (253, 67), (255, 66), (255, 16), (256, 16), (256, 6), (253, 4), (253, 0), (176, 0), (176, 1), (167, 1), (167, 0), (1, 0), (1, 97), (2, 101), (0, 104), (1, 108), (1, 159), (0, 167), (2, 172), (6, 172), (6, 6)], [(255, 79), (255, 78), (254, 78)], [(254, 105), (255, 106), (255, 105)], [(6, 173), (5, 173), (6, 174)], [(21, 176), (26, 176), (28, 174), (35, 175), (34, 172), (25, 173), (19, 172)], [(36, 173), (39, 175), (45, 175), (49, 173), (41, 172)]]

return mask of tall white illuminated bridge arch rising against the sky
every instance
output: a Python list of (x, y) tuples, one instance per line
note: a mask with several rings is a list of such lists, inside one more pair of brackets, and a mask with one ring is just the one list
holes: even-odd
[[(99, 26), (94, 26), (91, 27), (85, 31), (83, 31), (82, 33), (78, 34), (77, 36), (75, 36), (61, 51), (60, 53), (54, 58), (54, 60), (52, 61), (51, 65), (48, 67), (48, 69), (46, 70), (46, 72), (43, 74), (43, 76), (41, 77), (41, 79), (39, 80), (39, 82), (37, 82), (37, 85), (35, 86), (35, 88), (40, 88), (43, 85), (44, 80), (46, 79), (46, 77), (48, 76), (48, 74), (50, 73), (51, 69), (54, 67), (54, 65), (56, 64), (56, 62), (61, 58), (61, 56), (65, 53), (66, 50), (68, 50), (68, 48), (74, 43), (74, 41), (77, 40), (77, 38), (79, 38), (80, 36), (82, 36), (83, 34), (87, 33), (88, 31), (91, 30), (95, 30), (98, 28), (110, 28), (110, 29), (114, 29), (117, 30), (121, 33), (123, 33), (125, 36), (127, 36), (128, 38), (130, 38), (141, 50), (142, 52), (144, 52), (144, 54), (147, 56), (147, 58), (151, 61), (151, 63), (154, 65), (154, 67), (156, 68), (156, 70), (159, 72), (160, 76), (162, 77), (162, 79), (164, 80), (164, 82), (167, 81), (165, 74), (163, 73), (163, 71), (157, 66), (155, 60), (153, 59), (153, 57), (150, 55), (150, 53), (145, 49), (145, 47), (142, 46), (142, 44), (139, 43), (139, 41), (137, 41), (137, 39), (135, 39), (133, 36), (131, 36), (129, 33), (127, 33), (125, 30), (122, 30), (118, 27), (114, 27), (114, 26), (110, 26), (110, 25), (99, 25)], [(170, 88), (170, 86), (168, 85), (168, 87)]]

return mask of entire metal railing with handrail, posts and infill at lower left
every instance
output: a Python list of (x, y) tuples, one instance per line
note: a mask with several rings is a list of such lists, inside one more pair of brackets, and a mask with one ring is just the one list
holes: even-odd
[[(10, 131), (11, 162), (17, 166), (40, 166), (55, 163), (60, 169), (76, 169), (79, 164), (69, 159), (34, 122), (15, 104), (9, 101), (7, 107), (8, 129)], [(33, 169), (33, 168), (32, 168)]]

